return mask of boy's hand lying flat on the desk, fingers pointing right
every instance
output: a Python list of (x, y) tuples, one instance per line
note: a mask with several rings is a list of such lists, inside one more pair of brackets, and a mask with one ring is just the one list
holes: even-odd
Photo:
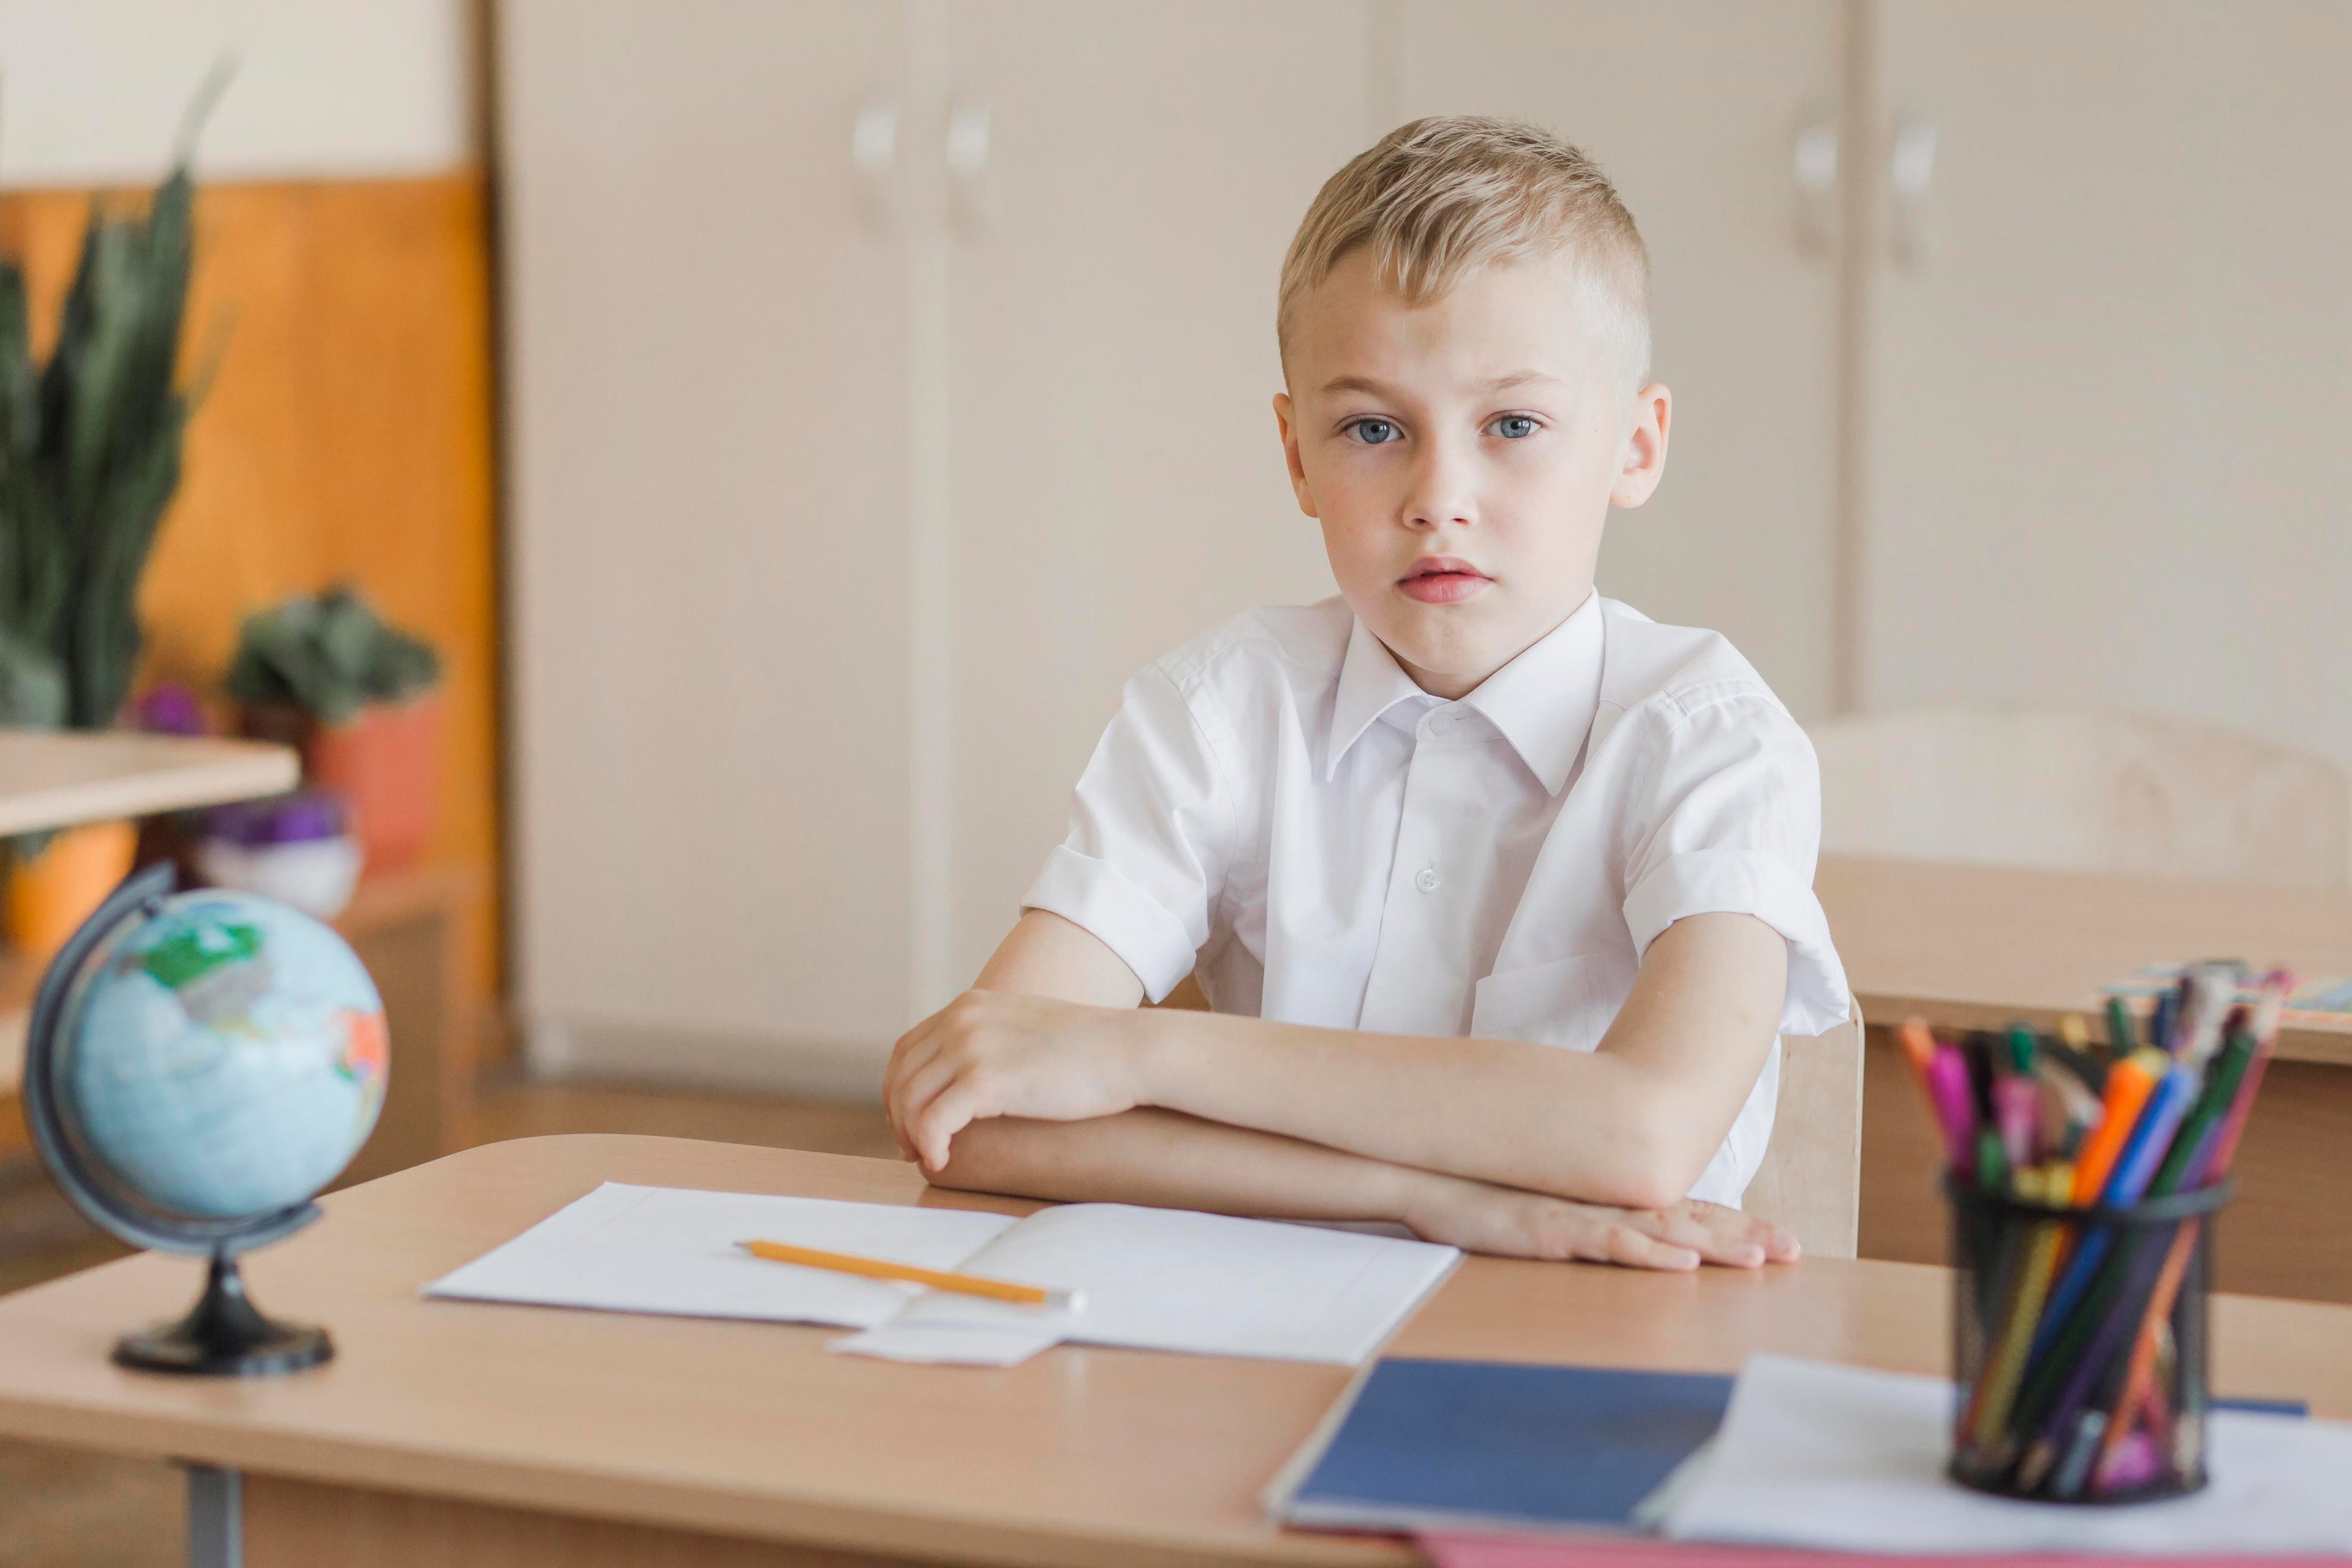
[(1637, 1269), (1696, 1269), (1717, 1262), (1752, 1269), (1795, 1262), (1797, 1239), (1722, 1204), (1684, 1199), (1672, 1208), (1604, 1208), (1470, 1180), (1432, 1185), (1404, 1218), (1423, 1241), (1498, 1258), (1621, 1262)]

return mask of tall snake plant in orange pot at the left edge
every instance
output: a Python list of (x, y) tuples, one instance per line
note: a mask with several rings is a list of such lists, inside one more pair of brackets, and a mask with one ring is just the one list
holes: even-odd
[[(92, 205), (47, 362), (0, 259), (0, 726), (108, 729), (129, 693), (139, 576), (202, 395), (179, 383), (193, 202), (181, 158), (146, 212)], [(52, 950), (134, 844), (129, 823), (12, 842), (9, 938)]]

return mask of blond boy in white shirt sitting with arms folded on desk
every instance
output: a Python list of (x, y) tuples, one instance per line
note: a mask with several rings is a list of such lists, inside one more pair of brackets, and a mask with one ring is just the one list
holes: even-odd
[[(898, 1041), (934, 1182), (1792, 1260), (1736, 1204), (1846, 1016), (1804, 731), (1592, 590), (1665, 468), (1649, 259), (1545, 132), (1418, 120), (1282, 268), (1275, 421), (1338, 597), (1143, 670), (971, 992)], [(1138, 1011), (1200, 973), (1214, 1013)]]

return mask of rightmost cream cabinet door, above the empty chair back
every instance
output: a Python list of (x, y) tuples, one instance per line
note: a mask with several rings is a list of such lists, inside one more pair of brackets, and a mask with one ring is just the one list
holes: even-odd
[(1867, 698), (2171, 710), (2352, 764), (2352, 7), (1907, 0)]

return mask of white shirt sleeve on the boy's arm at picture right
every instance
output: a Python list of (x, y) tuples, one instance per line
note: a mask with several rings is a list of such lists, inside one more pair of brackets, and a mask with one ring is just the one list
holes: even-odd
[(1731, 691), (1670, 726), (1632, 802), (1625, 924), (1635, 952), (1691, 914), (1755, 914), (1788, 940), (1783, 1034), (1846, 1020), (1846, 969), (1813, 898), (1820, 766), (1771, 696)]

